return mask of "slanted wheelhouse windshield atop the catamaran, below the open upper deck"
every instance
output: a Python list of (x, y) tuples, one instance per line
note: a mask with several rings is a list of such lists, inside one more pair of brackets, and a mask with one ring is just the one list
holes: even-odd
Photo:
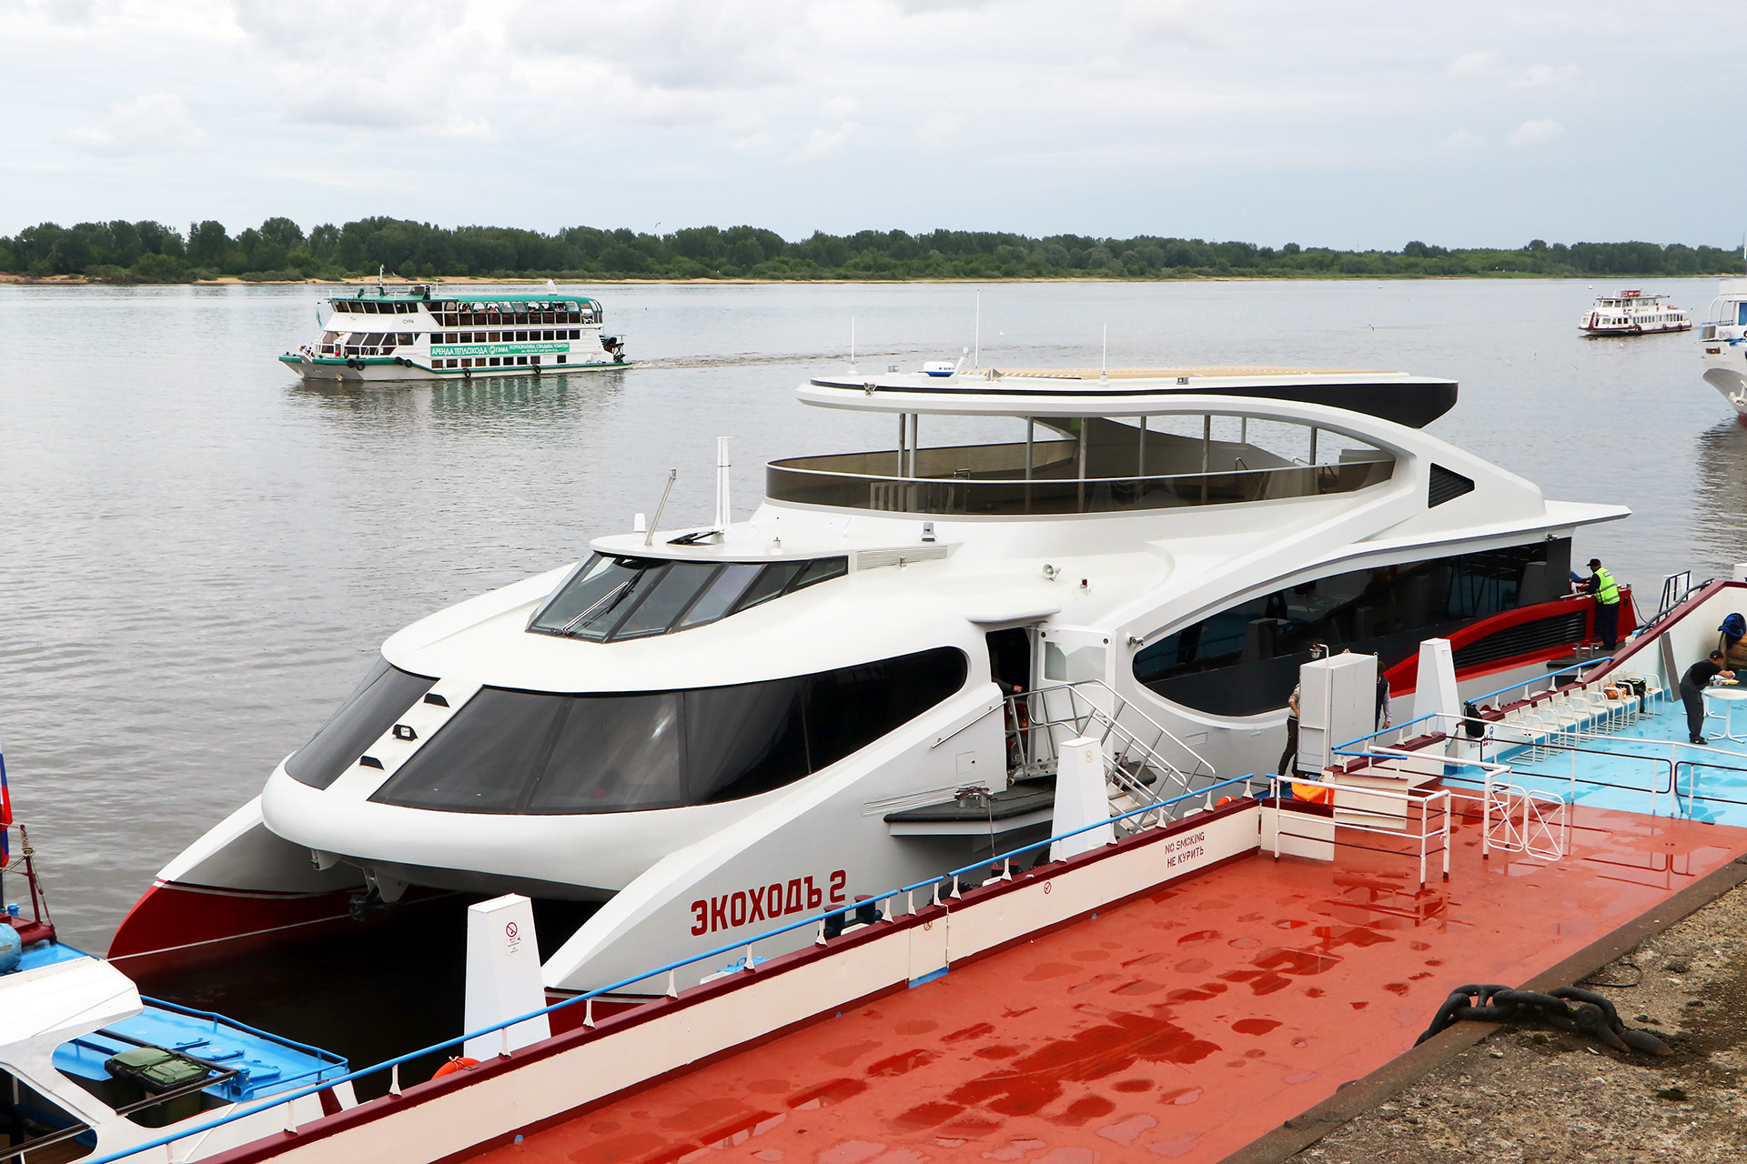
[(690, 630), (849, 572), (847, 557), (798, 562), (674, 562), (589, 557), (528, 630), (615, 642)]

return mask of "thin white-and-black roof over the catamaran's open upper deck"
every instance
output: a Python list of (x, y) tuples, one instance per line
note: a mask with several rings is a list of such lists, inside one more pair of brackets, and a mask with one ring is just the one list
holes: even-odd
[(1148, 415), (1169, 408), (1172, 396), (1254, 396), (1426, 428), (1455, 407), (1457, 382), (1364, 368), (977, 368), (819, 375), (798, 394), (826, 408), (1038, 417)]

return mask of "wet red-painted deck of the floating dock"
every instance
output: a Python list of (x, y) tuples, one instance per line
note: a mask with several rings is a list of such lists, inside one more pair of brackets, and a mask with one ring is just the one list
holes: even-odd
[[(1576, 810), (1560, 862), (1251, 855), (477, 1159), (1219, 1161), (1406, 1051), (1462, 983), (1518, 984), (1747, 852)], [(1490, 866), (1490, 867), (1488, 867)]]

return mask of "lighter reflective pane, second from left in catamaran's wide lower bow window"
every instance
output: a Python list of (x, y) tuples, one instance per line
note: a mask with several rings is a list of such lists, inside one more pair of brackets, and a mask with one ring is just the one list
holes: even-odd
[(601, 813), (685, 803), (678, 693), (564, 702), (570, 714), (524, 811)]

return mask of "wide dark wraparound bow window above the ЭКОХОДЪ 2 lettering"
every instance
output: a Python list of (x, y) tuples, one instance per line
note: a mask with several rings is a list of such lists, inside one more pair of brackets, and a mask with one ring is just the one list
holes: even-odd
[(370, 799), (535, 815), (737, 801), (793, 784), (896, 731), (963, 689), (968, 672), (963, 651), (935, 647), (688, 691), (484, 688)]

